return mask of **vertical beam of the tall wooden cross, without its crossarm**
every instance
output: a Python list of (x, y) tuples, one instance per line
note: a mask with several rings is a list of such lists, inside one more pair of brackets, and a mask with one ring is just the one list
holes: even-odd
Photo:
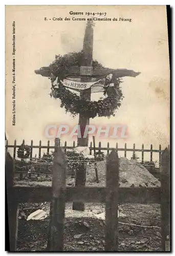
[[(92, 67), (93, 61), (93, 24), (92, 22), (88, 22), (85, 29), (84, 41), (83, 41), (83, 59), (81, 66)], [(80, 74), (81, 75), (81, 74)], [(86, 81), (87, 78), (85, 77)], [(81, 78), (81, 81), (84, 81)], [(80, 93), (80, 97), (86, 100), (91, 100), (91, 88), (83, 90)], [(84, 130), (86, 125), (89, 125), (90, 119), (84, 117), (81, 113), (79, 114), (79, 125), (81, 131), (81, 138), (78, 138), (77, 145), (78, 146), (88, 146), (88, 135), (86, 138), (83, 138)], [(76, 174), (75, 186), (85, 186), (85, 173), (86, 166), (82, 164), (79, 172)], [(81, 210), (85, 209), (83, 202), (73, 202), (73, 210)]]

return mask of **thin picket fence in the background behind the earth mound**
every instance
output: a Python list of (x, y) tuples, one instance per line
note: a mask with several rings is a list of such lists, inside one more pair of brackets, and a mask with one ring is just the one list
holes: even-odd
[[(25, 144), (25, 140), (23, 140), (23, 144)], [(59, 140), (59, 146), (64, 150), (64, 152), (66, 153), (67, 151), (73, 150), (73, 148), (76, 147), (76, 143), (75, 141), (73, 141), (73, 145), (72, 146), (68, 146), (67, 145), (67, 141), (65, 141), (63, 143), (64, 145), (60, 145), (60, 140)], [(14, 144), (9, 145), (8, 141), (6, 141), (6, 151), (8, 151), (9, 148), (13, 149), (13, 159), (16, 159), (16, 150), (17, 148), (19, 148), (21, 145), (17, 145), (16, 144), (16, 140), (14, 141)], [(94, 153), (95, 156), (95, 171), (96, 171), (96, 176), (97, 176), (97, 180), (98, 180), (98, 174), (97, 174), (97, 168), (96, 168), (96, 161), (101, 161), (103, 158), (101, 157), (101, 153), (106, 153), (107, 155), (110, 154), (110, 152), (112, 150), (116, 150), (117, 152), (123, 152), (123, 156), (127, 157), (127, 152), (132, 153), (132, 159), (136, 159), (137, 160), (137, 153), (141, 153), (141, 161), (140, 163), (142, 165), (144, 165), (149, 172), (154, 175), (157, 179), (160, 179), (160, 166), (161, 166), (161, 154), (162, 154), (162, 147), (161, 145), (159, 145), (159, 149), (153, 149), (152, 144), (150, 145), (150, 148), (147, 149), (144, 147), (144, 144), (142, 144), (141, 148), (136, 148), (136, 145), (133, 144), (133, 148), (127, 148), (127, 144), (124, 144), (124, 147), (118, 147), (118, 143), (116, 143), (116, 147), (110, 147), (110, 143), (107, 142), (107, 147), (103, 147), (101, 145), (101, 142), (98, 143), (98, 146), (95, 146), (95, 139), (93, 139), (93, 142), (90, 143), (90, 155), (92, 155), (92, 153)], [(34, 162), (35, 159), (33, 158), (33, 150), (38, 149), (38, 158), (37, 158), (37, 164)], [(169, 149), (169, 145), (168, 145), (168, 149)], [(28, 173), (28, 170), (31, 169), (31, 166), (36, 166), (36, 168), (34, 168), (34, 172), (32, 172), (32, 174), (37, 174), (37, 177), (39, 177), (41, 174), (46, 175), (46, 178), (49, 177), (49, 175), (52, 174), (52, 171), (50, 170), (51, 166), (47, 166), (46, 163), (41, 162), (43, 159), (43, 156), (41, 156), (41, 150), (45, 150), (47, 151), (45, 157), (49, 157), (51, 151), (55, 150), (55, 145), (50, 145), (50, 141), (48, 140), (47, 145), (42, 145), (41, 140), (39, 141), (39, 145), (33, 145), (33, 140), (31, 140), (30, 143), (30, 157), (29, 163), (26, 163), (24, 161), (24, 159), (20, 160), (20, 163), (18, 162), (18, 164), (15, 165), (15, 172), (19, 174), (19, 179), (23, 180), (23, 175), (25, 173)], [(36, 153), (36, 152), (35, 152)], [(145, 157), (144, 154), (148, 153), (149, 155), (149, 161), (147, 158), (147, 161), (145, 161)], [(158, 166), (155, 166), (155, 159), (153, 157), (153, 154), (156, 153), (157, 156), (157, 160), (158, 160)], [(157, 161), (156, 160), (156, 161)], [(19, 161), (19, 160), (18, 160)], [(39, 165), (39, 161), (41, 162)], [(46, 162), (46, 161), (45, 161)], [(26, 167), (26, 165), (28, 165), (28, 168)], [(45, 165), (45, 167), (44, 167)], [(45, 171), (43, 172), (43, 169), (45, 169)], [(52, 167), (51, 167), (52, 169)], [(68, 175), (73, 175), (73, 170), (68, 172)], [(31, 178), (31, 173), (29, 172), (28, 174), (29, 178)]]

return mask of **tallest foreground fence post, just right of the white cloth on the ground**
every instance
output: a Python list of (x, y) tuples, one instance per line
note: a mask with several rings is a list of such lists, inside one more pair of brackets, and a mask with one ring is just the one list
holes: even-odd
[(53, 199), (50, 223), (50, 251), (63, 251), (66, 173), (65, 155), (61, 148), (56, 146), (52, 177)]

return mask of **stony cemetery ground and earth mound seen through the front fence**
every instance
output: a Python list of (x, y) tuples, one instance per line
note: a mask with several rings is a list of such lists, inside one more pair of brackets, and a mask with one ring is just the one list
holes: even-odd
[[(129, 174), (129, 176), (127, 175)], [(95, 180), (94, 166), (88, 166), (87, 186), (105, 186), (105, 162), (98, 163), (99, 183)], [(28, 175), (27, 175), (28, 176)], [(143, 176), (143, 177), (142, 177)], [(135, 180), (134, 180), (135, 179)], [(20, 186), (51, 186), (52, 177), (46, 175), (15, 178)], [(126, 158), (120, 159), (121, 185), (160, 185), (146, 168), (134, 164)], [(74, 178), (67, 179), (67, 186), (74, 186)], [(18, 251), (47, 250), (50, 202), (25, 203), (19, 205)], [(37, 209), (43, 209), (48, 217), (44, 220), (29, 220), (27, 217)], [(72, 203), (66, 203), (64, 221), (64, 251), (103, 251), (105, 220), (97, 218), (105, 212), (101, 203), (85, 203), (85, 211), (73, 211)], [(160, 251), (161, 250), (161, 209), (159, 204), (119, 205), (119, 250), (120, 251)], [(132, 225), (134, 224), (134, 225)], [(144, 227), (145, 226), (145, 227)], [(146, 227), (151, 226), (151, 227)]]

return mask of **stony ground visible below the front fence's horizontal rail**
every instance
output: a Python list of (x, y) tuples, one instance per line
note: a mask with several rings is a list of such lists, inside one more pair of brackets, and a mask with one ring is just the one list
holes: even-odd
[[(102, 204), (86, 203), (86, 211), (100, 214), (105, 206)], [(32, 208), (31, 204), (23, 204), (24, 208)], [(33, 208), (40, 208), (33, 204)], [(45, 204), (45, 209), (50, 203)], [(22, 208), (22, 207), (21, 207)], [(158, 204), (122, 204), (119, 206), (125, 217), (119, 217), (119, 222), (142, 226), (161, 225), (161, 211)], [(95, 217), (70, 217), (72, 203), (67, 203), (64, 222), (64, 251), (102, 251), (104, 250), (105, 221)], [(86, 212), (86, 216), (88, 216)], [(45, 251), (47, 250), (49, 217), (45, 220), (18, 220), (18, 251)], [(157, 227), (140, 227), (119, 223), (119, 250), (120, 251), (160, 251), (161, 233)]]

